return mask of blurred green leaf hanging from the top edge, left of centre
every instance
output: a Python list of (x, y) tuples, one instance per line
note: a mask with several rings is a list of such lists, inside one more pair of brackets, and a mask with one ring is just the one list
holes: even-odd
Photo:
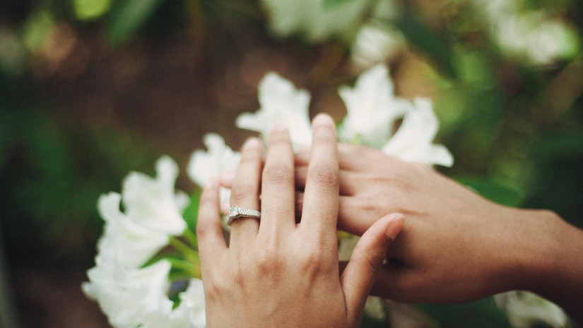
[(121, 45), (153, 16), (163, 0), (119, 1), (112, 10), (109, 39), (114, 47)]

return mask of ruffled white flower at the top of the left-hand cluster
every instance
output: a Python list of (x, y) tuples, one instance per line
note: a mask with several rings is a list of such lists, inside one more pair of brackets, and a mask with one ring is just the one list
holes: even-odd
[(180, 213), (189, 199), (182, 192), (175, 193), (176, 163), (163, 156), (156, 171), (155, 178), (131, 172), (121, 195), (112, 192), (98, 201), (105, 221), (98, 250), (113, 248), (119, 261), (132, 268), (141, 266), (167, 244), (170, 235), (181, 234), (187, 226)]

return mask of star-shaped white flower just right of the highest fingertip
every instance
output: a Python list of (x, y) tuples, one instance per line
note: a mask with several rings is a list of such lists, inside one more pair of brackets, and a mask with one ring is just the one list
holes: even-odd
[(377, 65), (365, 71), (356, 80), (354, 88), (338, 89), (348, 114), (344, 118), (338, 138), (381, 148), (391, 135), (393, 124), (407, 112), (411, 103), (394, 96), (394, 86), (389, 70)]

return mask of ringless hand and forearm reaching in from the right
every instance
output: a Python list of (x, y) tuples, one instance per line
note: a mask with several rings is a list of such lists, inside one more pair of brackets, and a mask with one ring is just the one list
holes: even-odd
[[(296, 156), (299, 208), (309, 159)], [(338, 145), (338, 162), (339, 229), (360, 235), (382, 213), (407, 217), (373, 294), (445, 303), (524, 289), (583, 320), (583, 230), (551, 211), (494, 204), (432, 168), (372, 148)]]

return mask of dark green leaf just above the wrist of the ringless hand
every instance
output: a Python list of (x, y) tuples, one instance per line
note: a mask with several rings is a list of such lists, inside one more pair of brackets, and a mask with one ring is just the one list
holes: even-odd
[(498, 204), (519, 206), (522, 201), (522, 195), (517, 190), (490, 180), (488, 177), (455, 177), (455, 180)]

